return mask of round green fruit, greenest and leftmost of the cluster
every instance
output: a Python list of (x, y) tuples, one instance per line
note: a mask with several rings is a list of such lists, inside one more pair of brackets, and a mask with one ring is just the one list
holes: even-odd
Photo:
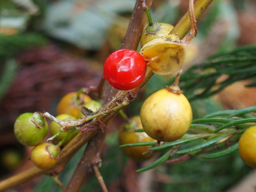
[[(35, 123), (32, 122), (32, 119)], [(21, 114), (14, 123), (14, 134), (22, 145), (35, 146), (43, 141), (48, 124), (39, 113)]]

